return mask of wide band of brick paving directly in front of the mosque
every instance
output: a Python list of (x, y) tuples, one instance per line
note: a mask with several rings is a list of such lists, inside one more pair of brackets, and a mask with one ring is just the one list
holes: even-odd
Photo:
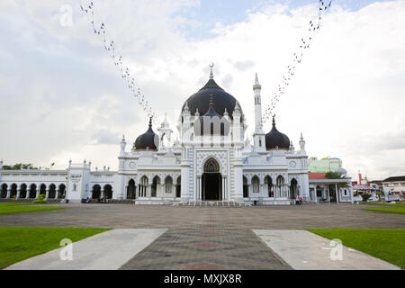
[(364, 211), (365, 205), (173, 207), (65, 204), (58, 211), (0, 215), (0, 226), (143, 229), (405, 228), (401, 214)]

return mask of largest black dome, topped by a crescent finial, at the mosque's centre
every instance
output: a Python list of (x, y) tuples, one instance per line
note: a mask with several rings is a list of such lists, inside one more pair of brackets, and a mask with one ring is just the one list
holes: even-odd
[[(185, 103), (188, 105), (191, 115), (194, 115), (198, 109), (200, 115), (204, 115), (210, 110), (210, 94), (214, 94), (213, 104), (215, 106), (215, 111), (223, 116), (225, 109), (229, 113), (229, 118), (233, 120), (233, 110), (235, 105), (238, 102), (234, 96), (225, 92), (213, 79), (210, 77), (210, 80), (204, 85), (200, 91), (196, 94), (193, 94), (190, 98), (187, 99)], [(185, 103), (182, 108), (184, 111)], [(240, 104), (239, 104), (240, 107)], [(240, 113), (243, 117), (242, 109)]]

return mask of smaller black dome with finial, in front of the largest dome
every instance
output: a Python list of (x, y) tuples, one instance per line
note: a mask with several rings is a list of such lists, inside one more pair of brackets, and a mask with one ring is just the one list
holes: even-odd
[[(229, 134), (229, 121), (223, 118), (214, 108), (214, 97), (210, 94), (209, 110), (202, 116), (200, 116), (197, 121), (194, 122), (193, 130), (196, 136), (202, 135), (228, 135)], [(215, 118), (216, 117), (216, 118)], [(209, 127), (205, 127), (205, 124), (209, 124)]]

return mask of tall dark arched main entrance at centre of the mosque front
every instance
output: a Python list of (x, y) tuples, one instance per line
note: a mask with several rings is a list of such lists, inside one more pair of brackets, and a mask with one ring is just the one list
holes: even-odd
[(202, 175), (202, 200), (222, 200), (221, 183), (220, 165), (214, 158), (210, 158), (205, 162), (204, 174)]

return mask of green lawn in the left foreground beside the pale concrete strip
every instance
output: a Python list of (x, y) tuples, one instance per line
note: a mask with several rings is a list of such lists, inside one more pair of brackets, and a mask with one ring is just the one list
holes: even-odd
[(109, 229), (0, 227), (0, 269)]

